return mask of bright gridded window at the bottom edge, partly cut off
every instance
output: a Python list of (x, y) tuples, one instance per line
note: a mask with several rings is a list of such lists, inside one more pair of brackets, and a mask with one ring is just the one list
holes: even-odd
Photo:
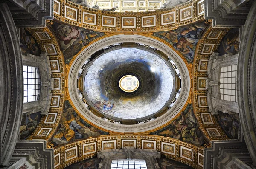
[(145, 160), (113, 160), (111, 169), (147, 169)]

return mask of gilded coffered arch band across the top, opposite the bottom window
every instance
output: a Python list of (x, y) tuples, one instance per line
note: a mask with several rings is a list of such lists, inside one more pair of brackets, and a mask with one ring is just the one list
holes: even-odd
[[(136, 1), (137, 2), (137, 1)], [(106, 2), (97, 2), (109, 4)], [(134, 6), (135, 1), (124, 1), (123, 6)], [(113, 4), (116, 4), (113, 2)], [(148, 1), (149, 6), (160, 6), (158, 1)], [(79, 6), (68, 0), (54, 0), (54, 18), (70, 25), (89, 28), (100, 32), (147, 33), (176, 29), (204, 18), (204, 6), (200, 0), (190, 0), (172, 8), (148, 12), (128, 9), (131, 12), (109, 12)], [(140, 2), (141, 6), (145, 2)], [(104, 5), (103, 5), (104, 6)], [(109, 8), (109, 7), (108, 7)]]

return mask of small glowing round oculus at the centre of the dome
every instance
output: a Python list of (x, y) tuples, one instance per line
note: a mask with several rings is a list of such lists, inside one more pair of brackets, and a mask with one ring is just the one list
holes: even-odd
[(125, 92), (134, 92), (139, 87), (140, 82), (132, 75), (123, 76), (119, 81), (119, 87)]

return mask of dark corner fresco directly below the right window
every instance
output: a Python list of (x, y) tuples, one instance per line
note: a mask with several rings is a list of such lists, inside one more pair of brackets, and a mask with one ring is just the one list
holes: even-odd
[(218, 123), (227, 136), (231, 139), (238, 139), (239, 114), (234, 112), (228, 114), (220, 111), (218, 113), (219, 114), (216, 115)]

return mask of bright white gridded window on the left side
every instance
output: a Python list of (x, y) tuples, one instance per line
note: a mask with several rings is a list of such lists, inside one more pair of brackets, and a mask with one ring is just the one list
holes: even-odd
[(40, 92), (40, 76), (38, 68), (23, 66), (24, 103), (37, 101)]

